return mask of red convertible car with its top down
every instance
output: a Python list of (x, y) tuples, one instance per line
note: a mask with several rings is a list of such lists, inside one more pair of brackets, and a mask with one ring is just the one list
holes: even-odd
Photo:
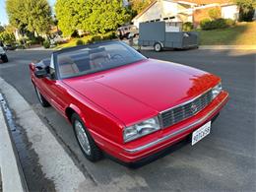
[(59, 50), (30, 70), (41, 105), (73, 125), (92, 161), (102, 152), (144, 160), (188, 136), (194, 145), (228, 98), (219, 77), (146, 58), (120, 41)]

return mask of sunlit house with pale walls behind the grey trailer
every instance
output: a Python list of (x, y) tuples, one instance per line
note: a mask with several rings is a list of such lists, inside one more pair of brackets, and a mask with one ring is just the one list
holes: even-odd
[(221, 9), (222, 17), (238, 19), (238, 8), (230, 0), (155, 0), (133, 19), (139, 28), (142, 22), (167, 21), (172, 24), (191, 22), (198, 26), (202, 18), (209, 17), (210, 9)]

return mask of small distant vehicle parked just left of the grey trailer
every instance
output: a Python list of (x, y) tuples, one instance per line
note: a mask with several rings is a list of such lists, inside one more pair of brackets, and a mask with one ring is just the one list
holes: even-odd
[(133, 37), (135, 37), (136, 35), (139, 34), (139, 30), (136, 26), (132, 26), (132, 25), (129, 25), (129, 26), (123, 26), (123, 27), (120, 27), (117, 29), (116, 31), (117, 33), (117, 36), (120, 38), (120, 39), (123, 39), (123, 38), (130, 38), (131, 37), (131, 34)]

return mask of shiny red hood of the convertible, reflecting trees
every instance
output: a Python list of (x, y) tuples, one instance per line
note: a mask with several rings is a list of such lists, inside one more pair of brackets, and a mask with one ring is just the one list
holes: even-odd
[(198, 69), (147, 59), (64, 83), (130, 124), (199, 96), (219, 81)]

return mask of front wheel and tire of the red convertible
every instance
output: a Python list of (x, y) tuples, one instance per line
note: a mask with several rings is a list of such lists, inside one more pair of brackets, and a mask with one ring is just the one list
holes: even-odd
[(71, 122), (78, 144), (85, 157), (93, 162), (101, 160), (102, 151), (96, 146), (96, 142), (77, 113), (73, 113)]

